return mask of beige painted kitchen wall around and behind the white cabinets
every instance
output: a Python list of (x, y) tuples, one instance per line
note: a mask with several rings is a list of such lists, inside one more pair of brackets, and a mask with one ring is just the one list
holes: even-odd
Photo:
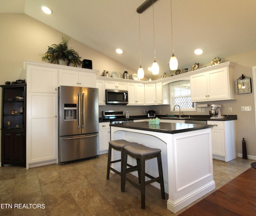
[[(16, 81), (24, 79), (23, 60), (42, 62), (41, 55), (51, 44), (60, 42), (62, 34), (53, 28), (30, 18), (24, 14), (0, 14), (0, 84), (6, 81)], [(123, 72), (127, 70), (130, 74), (136, 71), (128, 68), (107, 56), (92, 50), (88, 46), (70, 38), (70, 47), (74, 48), (82, 59), (92, 60), (94, 70), (99, 70), (100, 75), (103, 70)], [(231, 61), (237, 64), (235, 78), (239, 78), (242, 73), (252, 78), (252, 66), (256, 66), (256, 50), (222, 58), (221, 62)], [(234, 80), (235, 81), (235, 80)], [(0, 89), (2, 91), (2, 89)], [(238, 146), (237, 150), (242, 153), (242, 137), (246, 139), (248, 155), (256, 157), (256, 133), (254, 116), (254, 93), (237, 95), (234, 101), (218, 101), (212, 103), (222, 104), (223, 114), (238, 115)], [(2, 94), (0, 94), (1, 97)], [(1, 99), (1, 98), (0, 98)], [(252, 106), (251, 112), (241, 112), (241, 106)], [(228, 107), (233, 108), (232, 113), (228, 113)], [(112, 106), (101, 106), (100, 110), (108, 110)], [(115, 106), (114, 109), (128, 110), (130, 115), (143, 115), (144, 110), (154, 109), (160, 114), (170, 114), (170, 106)], [(176, 114), (176, 113), (174, 113)], [(187, 113), (184, 113), (187, 114)], [(199, 114), (190, 112), (188, 114)], [(205, 113), (208, 114), (206, 109)], [(101, 115), (101, 113), (100, 113)]]

